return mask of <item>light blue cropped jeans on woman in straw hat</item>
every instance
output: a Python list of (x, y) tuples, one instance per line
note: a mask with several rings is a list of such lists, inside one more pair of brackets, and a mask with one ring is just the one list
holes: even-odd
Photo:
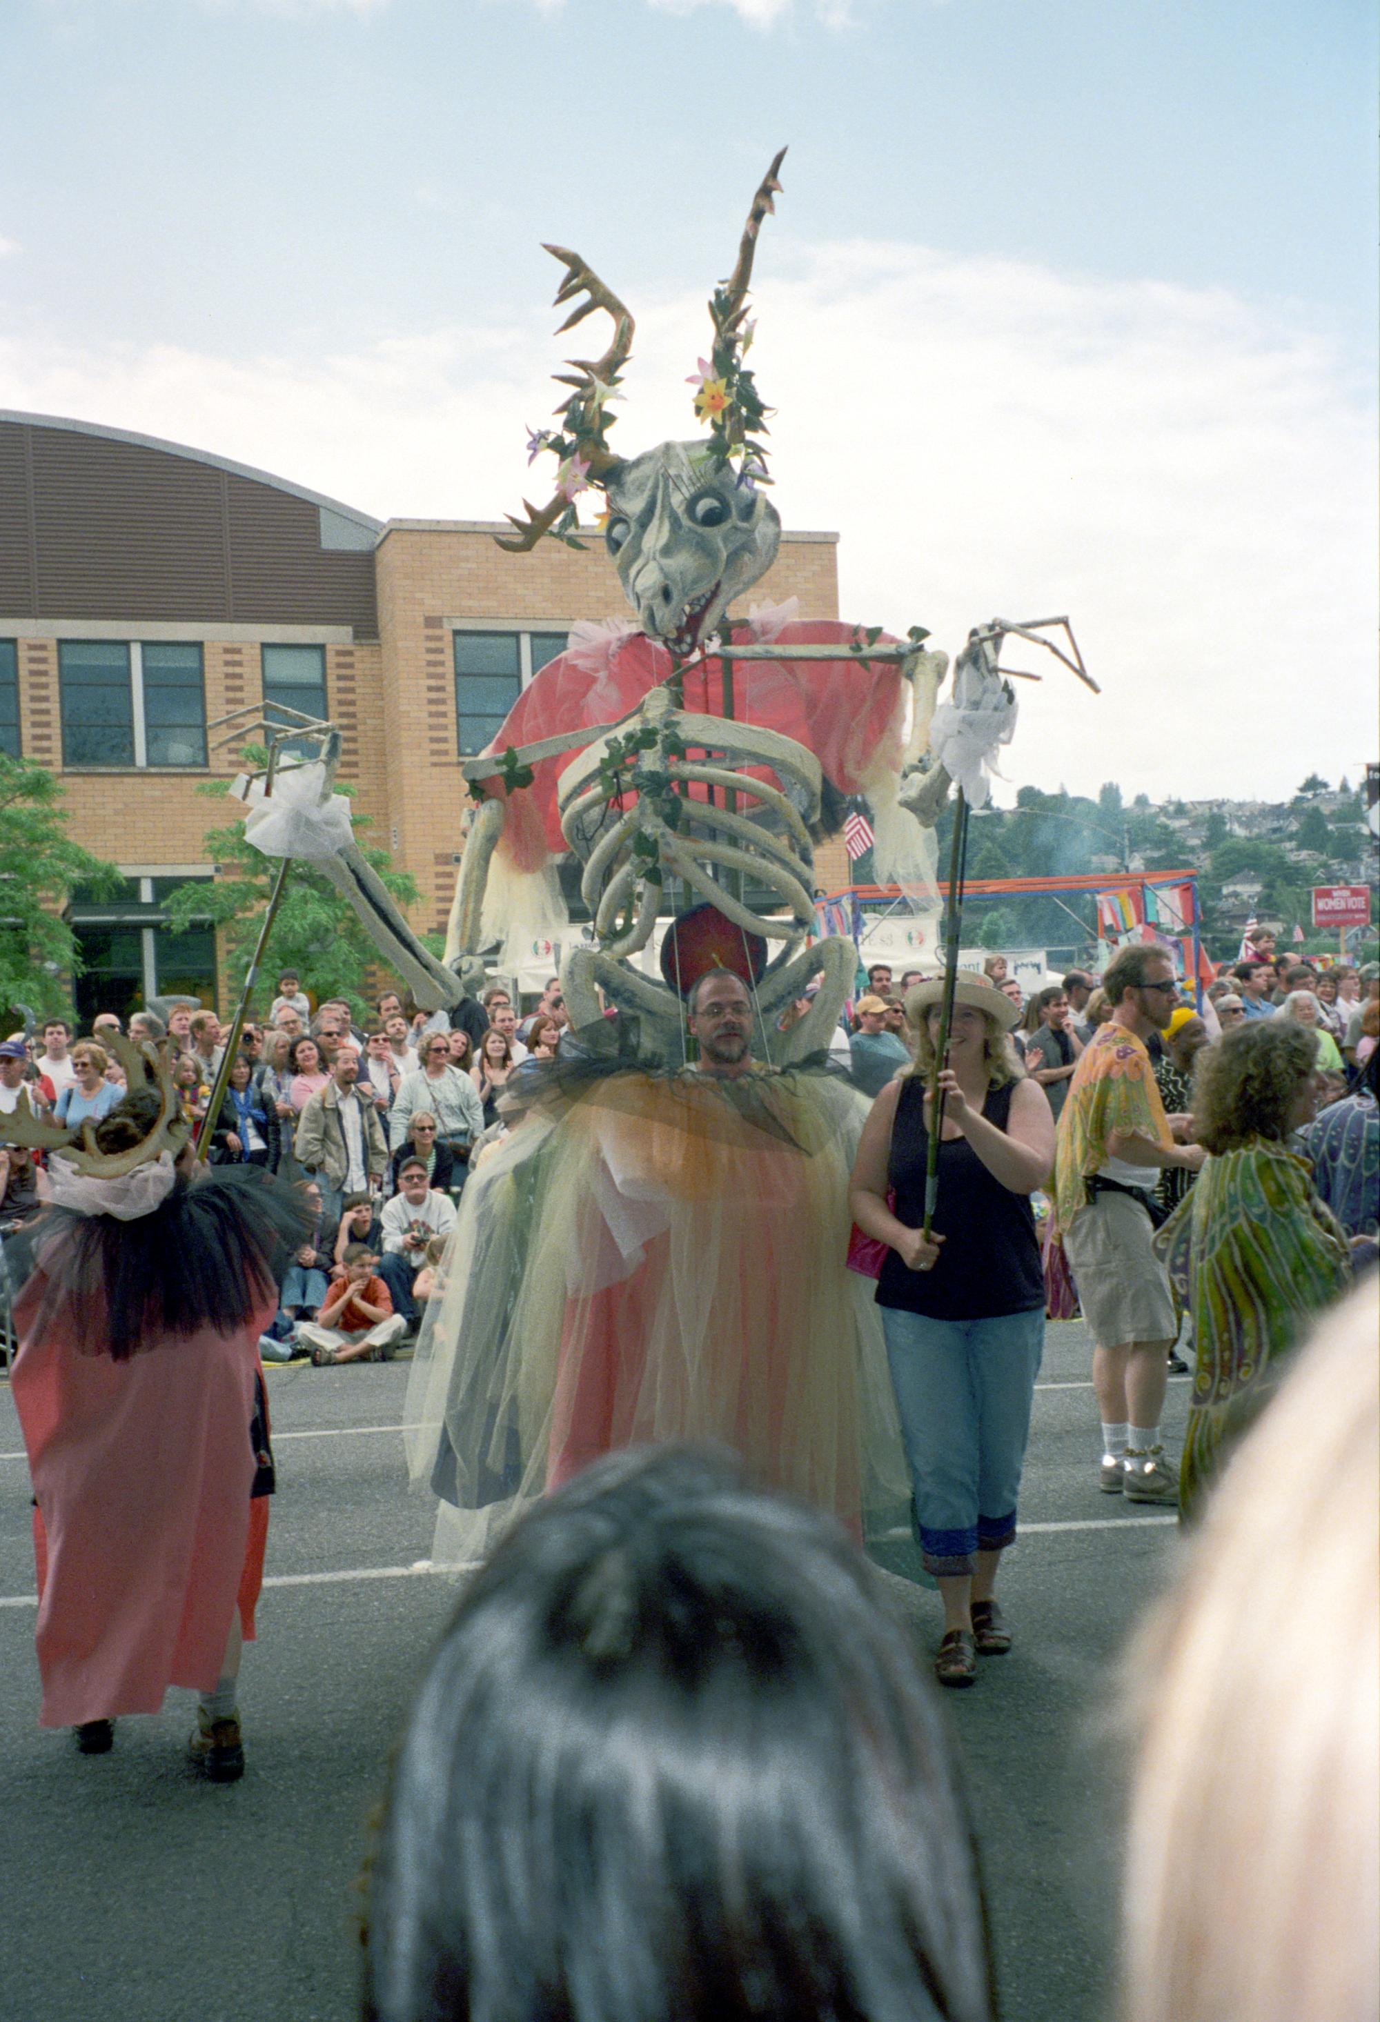
[(882, 1306), (886, 1361), (911, 1466), (925, 1571), (973, 1571), (1016, 1537), (1044, 1308), (996, 1320), (929, 1320)]

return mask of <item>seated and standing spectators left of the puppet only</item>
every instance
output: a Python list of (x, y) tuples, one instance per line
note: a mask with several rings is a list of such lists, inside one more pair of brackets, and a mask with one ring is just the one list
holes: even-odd
[[(208, 1134), (208, 1163), (277, 1173), (306, 1189), (312, 1209), (312, 1239), (283, 1276), (265, 1359), (391, 1355), (421, 1318), (417, 1286), (433, 1286), (435, 1266), (427, 1252), (455, 1223), (471, 1159), (506, 1128), (512, 1076), (528, 1058), (554, 1058), (567, 1025), (558, 979), (522, 1023), (498, 983), (451, 1013), (415, 1011), (384, 991), (358, 1019), (340, 997), (312, 1009), (301, 977), (283, 971), (267, 1019), (241, 1029), (217, 1116), (208, 1106), (233, 1027), (190, 1001), (164, 1009), (136, 1011), (130, 1037), (170, 1049), (184, 1116)], [(103, 1011), (89, 1037), (53, 1017), (4, 1039), (0, 1114), (28, 1090), (34, 1110), (61, 1124), (105, 1116), (123, 1094), (119, 1060), (101, 1045), (111, 1029), (121, 1021)], [(28, 1153), (2, 1159), (0, 1225), (14, 1231), (38, 1209), (45, 1181)]]

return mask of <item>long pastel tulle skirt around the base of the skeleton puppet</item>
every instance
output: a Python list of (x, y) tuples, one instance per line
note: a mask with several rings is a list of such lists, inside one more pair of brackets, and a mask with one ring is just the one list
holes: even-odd
[(573, 1090), (554, 1070), (465, 1187), (413, 1363), (439, 1563), (658, 1440), (722, 1442), (856, 1537), (904, 1523), (882, 1332), (844, 1268), (864, 1116), (826, 1072), (617, 1068)]

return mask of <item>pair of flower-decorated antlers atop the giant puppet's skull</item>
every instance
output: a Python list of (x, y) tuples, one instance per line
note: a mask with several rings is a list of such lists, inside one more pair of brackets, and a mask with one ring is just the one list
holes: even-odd
[[(696, 417), (710, 425), (712, 457), (726, 463), (730, 457), (741, 455), (741, 475), (747, 483), (767, 483), (767, 451), (761, 437), (767, 433), (769, 415), (757, 392), (753, 374), (743, 364), (743, 356), (753, 342), (753, 324), (747, 321), (747, 289), (753, 277), (753, 255), (761, 222), (775, 210), (773, 196), (781, 190), (777, 170), (783, 160), (785, 148), (781, 148), (753, 196), (735, 269), (710, 297), (708, 309), (714, 326), (710, 356), (708, 360), (700, 360), (700, 370), (690, 380), (698, 388), (694, 396)], [(508, 514), (516, 534), (496, 538), (498, 546), (508, 548), (510, 554), (526, 554), (542, 534), (550, 534), (571, 548), (583, 548), (577, 534), (575, 499), (581, 491), (589, 491), (591, 485), (603, 485), (621, 461), (613, 455), (607, 441), (607, 431), (617, 417), (605, 412), (605, 408), (617, 394), (621, 384), (619, 374), (631, 354), (631, 313), (579, 253), (552, 245), (546, 247), (546, 253), (567, 269), (567, 277), (556, 289), (556, 303), (571, 301), (581, 293), (587, 297), (585, 301), (577, 301), (560, 332), (573, 330), (593, 309), (605, 309), (613, 317), (613, 338), (603, 358), (571, 358), (567, 360), (571, 372), (556, 372), (556, 384), (573, 388), (569, 398), (556, 408), (560, 429), (536, 429), (528, 435), (528, 463), (534, 463), (544, 449), (550, 449), (560, 459), (556, 491), (540, 508), (524, 499), (526, 520)]]

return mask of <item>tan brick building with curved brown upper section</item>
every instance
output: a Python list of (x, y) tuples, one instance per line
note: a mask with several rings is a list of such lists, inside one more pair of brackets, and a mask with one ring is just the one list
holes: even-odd
[[(372, 819), (366, 841), (413, 876), (413, 924), (443, 930), (469, 805), (455, 633), (528, 635), (526, 673), (536, 663), (530, 635), (548, 657), (577, 621), (627, 611), (599, 538), (583, 550), (546, 540), (508, 554), (494, 542), (504, 526), (380, 526), (206, 451), (40, 415), (0, 412), (0, 526), (14, 534), (0, 544), (0, 667), (12, 667), (18, 687), (20, 748), (63, 778), (73, 839), (144, 880), (125, 892), (130, 918), (156, 906), (160, 880), (166, 892), (170, 880), (210, 871), (204, 839), (225, 825), (227, 807), (198, 789), (239, 764), (235, 744), (214, 750), (225, 736), (217, 724), (235, 712), (259, 716), (263, 647), (277, 643), (324, 649), (340, 780)], [(805, 619), (838, 617), (836, 548), (836, 534), (787, 532), (747, 603), (793, 596)], [(206, 764), (65, 766), (63, 641), (196, 643)], [(136, 716), (138, 665), (132, 655)], [(144, 718), (136, 758), (142, 736)], [(822, 847), (817, 882), (846, 882), (842, 845)], [(146, 944), (146, 977), (150, 960)]]

